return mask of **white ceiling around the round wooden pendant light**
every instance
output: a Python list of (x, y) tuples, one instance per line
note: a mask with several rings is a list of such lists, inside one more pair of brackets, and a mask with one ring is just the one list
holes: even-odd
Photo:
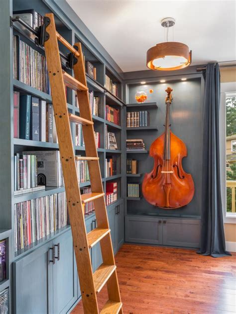
[(236, 60), (235, 0), (67, 2), (124, 72), (147, 69), (146, 51), (165, 41), (160, 20), (168, 16), (176, 20), (174, 41), (192, 50), (192, 65)]

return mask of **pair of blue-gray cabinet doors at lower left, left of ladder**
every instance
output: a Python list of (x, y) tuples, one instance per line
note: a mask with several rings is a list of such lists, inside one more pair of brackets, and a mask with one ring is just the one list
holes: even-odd
[[(53, 250), (55, 263), (53, 264)], [(14, 314), (64, 314), (77, 300), (71, 230), (13, 264)]]

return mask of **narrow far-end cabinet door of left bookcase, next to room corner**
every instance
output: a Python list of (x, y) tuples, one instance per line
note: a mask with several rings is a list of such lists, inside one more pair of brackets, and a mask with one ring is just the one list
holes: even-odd
[(124, 205), (119, 204), (116, 209), (116, 251), (124, 242)]

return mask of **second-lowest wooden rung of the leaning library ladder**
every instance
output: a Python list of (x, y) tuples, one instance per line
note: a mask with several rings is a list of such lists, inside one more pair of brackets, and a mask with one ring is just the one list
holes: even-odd
[(102, 290), (116, 268), (116, 265), (102, 264), (99, 266), (99, 268), (94, 273), (94, 285), (96, 293), (99, 293)]

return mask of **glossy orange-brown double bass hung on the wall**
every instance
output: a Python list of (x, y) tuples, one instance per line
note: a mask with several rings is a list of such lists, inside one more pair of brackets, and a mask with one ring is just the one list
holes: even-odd
[(176, 209), (191, 202), (194, 182), (191, 174), (182, 167), (187, 149), (182, 140), (170, 130), (170, 104), (172, 89), (167, 87), (165, 132), (151, 145), (149, 155), (154, 167), (142, 182), (142, 194), (147, 202), (163, 209)]

